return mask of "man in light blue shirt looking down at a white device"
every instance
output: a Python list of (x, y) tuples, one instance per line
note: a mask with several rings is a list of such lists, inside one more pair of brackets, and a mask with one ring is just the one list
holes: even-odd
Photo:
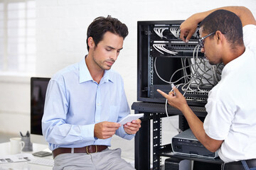
[(131, 140), (141, 120), (120, 125), (129, 114), (122, 77), (111, 67), (123, 48), (127, 26), (111, 16), (87, 29), (88, 55), (50, 79), (42, 118), (53, 150), (53, 169), (134, 169), (120, 149), (108, 149), (116, 134)]

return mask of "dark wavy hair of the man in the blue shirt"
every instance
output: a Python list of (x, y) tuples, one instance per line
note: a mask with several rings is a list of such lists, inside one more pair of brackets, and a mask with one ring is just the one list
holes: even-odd
[(107, 31), (119, 35), (122, 38), (128, 35), (127, 26), (121, 23), (117, 18), (112, 18), (111, 16), (107, 16), (107, 18), (103, 16), (97, 17), (87, 29), (87, 50), (89, 51), (88, 38), (92, 37), (95, 46), (97, 46)]

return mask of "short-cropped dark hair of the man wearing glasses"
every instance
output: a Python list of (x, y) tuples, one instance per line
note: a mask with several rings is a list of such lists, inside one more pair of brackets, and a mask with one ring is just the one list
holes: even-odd
[(228, 42), (230, 42), (233, 50), (235, 50), (235, 46), (243, 45), (242, 22), (240, 18), (231, 11), (223, 9), (214, 11), (203, 19), (199, 27), (203, 27), (203, 33), (207, 34), (220, 30), (220, 32), (225, 35)]

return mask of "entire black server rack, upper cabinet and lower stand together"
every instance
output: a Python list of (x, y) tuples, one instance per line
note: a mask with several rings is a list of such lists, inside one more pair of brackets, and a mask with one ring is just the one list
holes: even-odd
[[(138, 21), (137, 23), (137, 101), (139, 102), (134, 102), (132, 109), (135, 113), (144, 113), (145, 116), (142, 118), (142, 128), (135, 137), (136, 169), (151, 169), (151, 163), (153, 169), (161, 169), (160, 157), (173, 157), (171, 144), (161, 144), (161, 118), (166, 117), (166, 110), (169, 115), (179, 116), (179, 129), (188, 128), (182, 113), (176, 108), (165, 106), (166, 99), (156, 89), (168, 94), (171, 91), (171, 84), (174, 83), (185, 96), (192, 111), (203, 121), (207, 115), (204, 106), (208, 92), (220, 81), (223, 64), (211, 66), (205, 59), (198, 45), (198, 29), (188, 43), (179, 38), (179, 26), (182, 22)], [(150, 162), (151, 145), (153, 162)], [(198, 162), (201, 162), (201, 159), (198, 159)], [(205, 162), (222, 164), (220, 159)]]

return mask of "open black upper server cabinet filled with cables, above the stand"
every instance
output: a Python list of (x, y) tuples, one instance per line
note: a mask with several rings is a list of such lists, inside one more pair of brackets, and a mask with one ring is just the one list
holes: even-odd
[(198, 45), (198, 29), (186, 43), (180, 38), (183, 21), (138, 21), (137, 100), (165, 103), (156, 89), (178, 85), (190, 106), (204, 106), (208, 91), (219, 81), (222, 65), (210, 66)]

